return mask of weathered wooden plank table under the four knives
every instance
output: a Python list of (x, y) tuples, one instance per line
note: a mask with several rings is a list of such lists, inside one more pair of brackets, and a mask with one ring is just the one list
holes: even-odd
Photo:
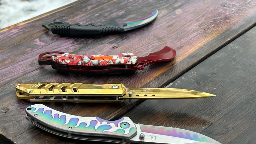
[[(61, 20), (100, 24), (127, 21), (159, 10), (152, 23), (122, 34), (91, 38), (55, 35), (43, 23)], [(215, 97), (133, 100), (121, 104), (55, 103), (44, 105), (79, 116), (191, 130), (223, 144), (255, 143), (256, 137), (256, 2), (245, 0), (83, 1), (49, 11), (0, 30), (0, 143), (84, 143), (50, 134), (25, 118), (37, 104), (16, 98), (16, 82), (123, 83), (126, 87), (167, 87), (203, 91)], [(60, 73), (38, 65), (46, 51), (73, 54), (132, 52), (138, 56), (169, 46), (171, 62), (151, 64), (133, 75)], [(88, 142), (88, 141), (87, 141)], [(95, 143), (95, 142), (88, 142)]]

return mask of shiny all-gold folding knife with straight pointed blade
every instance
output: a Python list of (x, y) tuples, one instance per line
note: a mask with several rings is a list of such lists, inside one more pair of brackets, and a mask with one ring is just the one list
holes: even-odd
[(121, 103), (124, 99), (188, 99), (215, 96), (173, 88), (126, 88), (123, 84), (15, 83), (18, 99), (33, 102)]

